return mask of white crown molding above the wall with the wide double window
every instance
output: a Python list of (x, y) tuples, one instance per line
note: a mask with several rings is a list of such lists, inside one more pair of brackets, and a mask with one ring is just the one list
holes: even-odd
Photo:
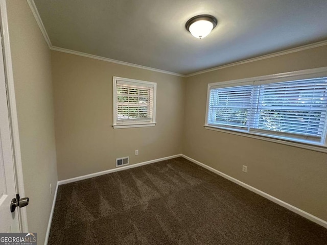
[(303, 45), (303, 46), (299, 46), (299, 47), (294, 47), (294, 48), (290, 48), (289, 50), (284, 50), (284, 51), (280, 51), (280, 52), (276, 52), (276, 53), (271, 53), (271, 54), (268, 54), (268, 55), (254, 57), (254, 58), (247, 59), (247, 60), (241, 60), (241, 61), (238, 61), (238, 62), (235, 62), (235, 63), (229, 63), (229, 64), (226, 64), (226, 65), (221, 65), (221, 66), (217, 66), (217, 67), (206, 69), (206, 70), (200, 70), (200, 71), (188, 74), (185, 77), (189, 78), (189, 77), (193, 77), (193, 76), (203, 74), (203, 73), (206, 73), (206, 72), (220, 70), (220, 69), (224, 69), (224, 68), (232, 67), (232, 66), (236, 66), (236, 65), (242, 65), (242, 64), (246, 64), (246, 63), (250, 63), (250, 62), (254, 62), (254, 61), (258, 61), (258, 60), (265, 60), (265, 59), (269, 59), (269, 58), (272, 58), (272, 57), (287, 55), (287, 54), (291, 54), (291, 53), (295, 53), (295, 52), (299, 52), (299, 51), (303, 51), (303, 50), (309, 50), (310, 48), (320, 47), (320, 46), (324, 46), (324, 45), (327, 45), (327, 40), (324, 40), (324, 41), (321, 41), (321, 42), (315, 42), (315, 43), (311, 43), (311, 44), (307, 44), (307, 45)]

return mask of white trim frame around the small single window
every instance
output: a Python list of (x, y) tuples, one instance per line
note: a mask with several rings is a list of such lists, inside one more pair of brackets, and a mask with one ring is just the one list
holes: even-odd
[[(144, 85), (151, 85), (153, 86), (153, 113), (152, 113), (152, 120), (149, 122), (128, 122), (124, 124), (117, 124), (117, 111), (116, 111), (116, 103), (117, 103), (117, 81), (125, 81), (131, 83), (139, 83), (140, 86)], [(157, 83), (130, 79), (130, 78), (121, 78), (121, 77), (113, 77), (113, 124), (112, 127), (114, 129), (124, 129), (124, 128), (139, 128), (139, 127), (152, 127), (156, 125), (155, 121), (155, 114), (156, 114), (156, 94), (157, 94)]]

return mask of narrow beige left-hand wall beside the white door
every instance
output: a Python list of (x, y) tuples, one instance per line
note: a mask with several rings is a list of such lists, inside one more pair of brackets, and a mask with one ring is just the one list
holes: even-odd
[(7, 1), (30, 232), (42, 244), (57, 183), (51, 53), (26, 1)]

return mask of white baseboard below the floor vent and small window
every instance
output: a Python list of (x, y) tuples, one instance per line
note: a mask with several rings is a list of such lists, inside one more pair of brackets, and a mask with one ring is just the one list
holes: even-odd
[(181, 157), (181, 156), (182, 156), (182, 154), (177, 154), (174, 156), (162, 157), (162, 158), (154, 159), (151, 161), (135, 163), (135, 164), (127, 165), (127, 166), (123, 166), (123, 167), (117, 167), (117, 168), (113, 168), (113, 169), (109, 169), (109, 170), (105, 170), (105, 171), (101, 171), (101, 172), (97, 172), (97, 173), (93, 173), (93, 174), (89, 174), (89, 175), (83, 175), (83, 176), (79, 176), (79, 177), (75, 177), (75, 178), (71, 178), (71, 179), (60, 180), (60, 181), (58, 181), (58, 185), (68, 184), (68, 183), (72, 183), (72, 182), (79, 181), (79, 180), (85, 180), (85, 179), (97, 177), (100, 175), (106, 175), (106, 174), (114, 173), (116, 171), (125, 170), (128, 168), (139, 167), (142, 165), (146, 165), (146, 164), (150, 164), (150, 163), (154, 163), (154, 162), (165, 161), (165, 160), (169, 160), (169, 159)]

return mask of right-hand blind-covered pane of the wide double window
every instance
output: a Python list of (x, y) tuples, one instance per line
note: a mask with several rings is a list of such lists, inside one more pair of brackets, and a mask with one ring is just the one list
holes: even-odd
[(255, 87), (259, 88), (259, 102), (253, 128), (322, 137), (327, 108), (326, 78)]

